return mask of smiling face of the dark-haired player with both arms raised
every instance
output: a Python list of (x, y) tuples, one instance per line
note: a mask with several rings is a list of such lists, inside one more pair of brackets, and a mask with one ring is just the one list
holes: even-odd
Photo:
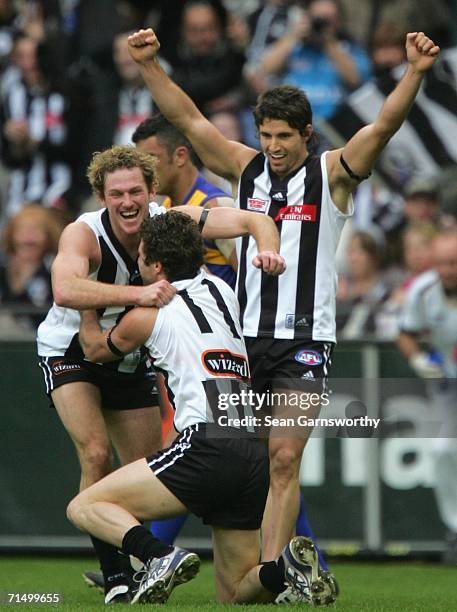
[(259, 125), (259, 138), (271, 169), (280, 178), (296, 170), (308, 157), (308, 135), (303, 136), (282, 119), (265, 119)]

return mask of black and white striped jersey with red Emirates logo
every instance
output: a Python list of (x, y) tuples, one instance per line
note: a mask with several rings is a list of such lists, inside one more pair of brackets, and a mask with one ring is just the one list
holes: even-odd
[(269, 215), (281, 237), (287, 269), (270, 276), (255, 268), (255, 240), (237, 241), (243, 333), (250, 337), (335, 342), (335, 252), (348, 214), (333, 203), (326, 153), (309, 155), (284, 180), (271, 172), (259, 153), (244, 169), (237, 206)]

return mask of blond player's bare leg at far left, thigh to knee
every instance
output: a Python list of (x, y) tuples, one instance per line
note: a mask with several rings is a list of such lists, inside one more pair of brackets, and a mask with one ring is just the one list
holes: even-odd
[(112, 469), (112, 452), (94, 385), (74, 382), (52, 391), (52, 401), (70, 435), (81, 466), (80, 489), (97, 482)]

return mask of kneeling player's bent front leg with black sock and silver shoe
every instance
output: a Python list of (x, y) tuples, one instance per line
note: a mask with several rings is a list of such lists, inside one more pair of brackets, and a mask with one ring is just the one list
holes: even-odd
[(132, 603), (164, 603), (175, 586), (196, 576), (200, 560), (195, 553), (161, 542), (140, 524), (186, 512), (145, 459), (82, 491), (67, 509), (68, 518), (79, 529), (143, 562), (143, 569), (133, 577), (138, 590)]

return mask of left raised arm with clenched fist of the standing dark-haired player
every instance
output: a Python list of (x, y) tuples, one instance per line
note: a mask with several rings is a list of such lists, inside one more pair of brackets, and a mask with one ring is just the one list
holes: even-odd
[(157, 61), (160, 43), (151, 29), (128, 38), (129, 51), (162, 114), (191, 142), (203, 164), (232, 182), (256, 155), (245, 145), (227, 140), (200, 113), (187, 94), (162, 70)]

